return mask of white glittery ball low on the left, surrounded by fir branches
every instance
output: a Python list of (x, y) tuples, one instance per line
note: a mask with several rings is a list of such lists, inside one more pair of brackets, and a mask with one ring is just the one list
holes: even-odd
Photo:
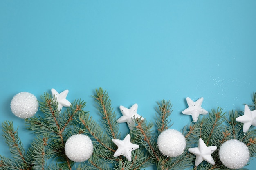
[(65, 144), (65, 154), (74, 162), (83, 162), (92, 156), (93, 144), (90, 137), (83, 134), (72, 135)]

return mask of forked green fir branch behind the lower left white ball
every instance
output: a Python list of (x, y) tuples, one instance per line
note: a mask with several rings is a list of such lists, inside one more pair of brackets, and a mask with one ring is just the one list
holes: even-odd
[(44, 94), (42, 97), (43, 102), (39, 102), (40, 110), (43, 112), (43, 116), (33, 116), (26, 120), (27, 129), (33, 130), (39, 135), (44, 135), (41, 132), (49, 134), (51, 143), (48, 147), (58, 156), (58, 162), (60, 167), (72, 169), (74, 164), (68, 159), (64, 152), (65, 141), (70, 135), (73, 135), (72, 121), (75, 117), (78, 117), (78, 113), (82, 112), (85, 107), (85, 102), (81, 100), (75, 100), (71, 107), (68, 107), (63, 113), (58, 111), (58, 102), (52, 100), (49, 94)]

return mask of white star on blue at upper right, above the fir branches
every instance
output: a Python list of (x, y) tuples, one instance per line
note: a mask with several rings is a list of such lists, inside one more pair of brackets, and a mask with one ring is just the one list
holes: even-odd
[(193, 102), (189, 97), (186, 98), (186, 102), (188, 103), (189, 107), (186, 108), (182, 113), (184, 115), (191, 115), (194, 122), (198, 121), (199, 115), (206, 115), (208, 111), (204, 110), (201, 105), (204, 98), (199, 98), (196, 102)]

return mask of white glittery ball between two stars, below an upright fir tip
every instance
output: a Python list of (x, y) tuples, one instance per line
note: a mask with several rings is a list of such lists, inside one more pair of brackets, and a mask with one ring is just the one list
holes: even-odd
[(177, 157), (184, 152), (186, 139), (179, 131), (167, 129), (158, 136), (157, 146), (163, 155)]

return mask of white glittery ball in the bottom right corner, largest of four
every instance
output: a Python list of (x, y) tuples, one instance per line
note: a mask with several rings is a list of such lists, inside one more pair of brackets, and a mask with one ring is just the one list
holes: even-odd
[(236, 139), (224, 142), (219, 150), (220, 161), (230, 169), (243, 168), (250, 158), (247, 146)]

